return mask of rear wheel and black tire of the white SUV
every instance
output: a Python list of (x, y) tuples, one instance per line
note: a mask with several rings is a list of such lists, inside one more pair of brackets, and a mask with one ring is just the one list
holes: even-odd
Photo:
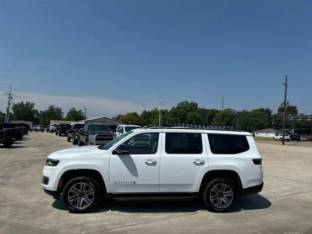
[[(216, 193), (217, 191), (219, 193)], [(209, 211), (218, 213), (227, 212), (236, 204), (236, 186), (230, 179), (227, 178), (213, 179), (206, 185), (203, 193), (203, 200)], [(214, 204), (214, 202), (217, 204)]]

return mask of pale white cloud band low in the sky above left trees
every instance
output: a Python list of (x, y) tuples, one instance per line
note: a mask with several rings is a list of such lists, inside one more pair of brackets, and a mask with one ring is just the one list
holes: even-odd
[[(0, 93), (4, 93), (0, 91)], [(36, 93), (14, 92), (13, 102), (30, 101), (36, 103), (36, 109), (46, 110), (49, 105), (61, 107), (66, 113), (70, 108), (75, 107), (84, 111), (87, 109), (87, 116), (92, 117), (114, 117), (118, 114), (127, 112), (141, 113), (144, 109), (151, 109), (151, 107), (142, 106), (138, 103), (116, 100), (102, 97), (73, 97), (73, 96), (57, 96)], [(93, 114), (93, 115), (92, 115)], [(66, 116), (66, 114), (65, 114)]]

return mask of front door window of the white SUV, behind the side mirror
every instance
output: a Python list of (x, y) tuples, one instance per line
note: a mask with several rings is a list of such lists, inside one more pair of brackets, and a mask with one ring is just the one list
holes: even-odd
[(130, 154), (156, 154), (159, 133), (138, 134), (117, 147), (117, 150), (129, 150)]

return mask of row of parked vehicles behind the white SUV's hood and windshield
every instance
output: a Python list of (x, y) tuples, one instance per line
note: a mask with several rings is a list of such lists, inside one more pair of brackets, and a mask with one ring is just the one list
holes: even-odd
[(105, 145), (116, 137), (133, 129), (141, 128), (137, 125), (110, 125), (110, 124), (51, 124), (48, 132), (61, 137), (66, 136), (73, 145)]

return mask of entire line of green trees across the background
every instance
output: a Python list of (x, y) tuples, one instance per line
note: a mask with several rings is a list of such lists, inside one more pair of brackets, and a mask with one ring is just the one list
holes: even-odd
[[(71, 108), (64, 117), (64, 112), (60, 107), (50, 105), (44, 111), (35, 109), (36, 104), (33, 102), (20, 102), (13, 104), (11, 120), (29, 120), (34, 124), (48, 126), (50, 120), (68, 120), (79, 121), (85, 119), (82, 110)], [(297, 115), (296, 106), (288, 106), (286, 110), (288, 115)], [(4, 113), (0, 112), (0, 122), (4, 121)], [(198, 107), (198, 103), (194, 101), (182, 101), (170, 110), (161, 110), (161, 124), (169, 125), (169, 123), (186, 123), (198, 125), (221, 125), (234, 126), (243, 131), (253, 132), (264, 128), (281, 129), (283, 125), (283, 107), (279, 107), (277, 113), (273, 114), (270, 108), (257, 108), (251, 111), (242, 110), (235, 111), (233, 109), (225, 109), (223, 111), (217, 109), (206, 109)], [(137, 112), (126, 113), (113, 117), (124, 124), (136, 124), (140, 126), (158, 125), (159, 110), (144, 110), (139, 115)], [(286, 129), (298, 129), (299, 134), (311, 135), (312, 121), (304, 120), (286, 120)]]

